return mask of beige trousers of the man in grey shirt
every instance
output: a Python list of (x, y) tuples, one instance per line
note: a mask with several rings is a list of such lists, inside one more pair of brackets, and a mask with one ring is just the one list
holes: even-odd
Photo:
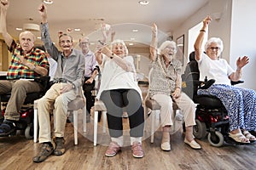
[[(49, 112), (54, 108), (54, 136), (64, 137), (67, 122), (67, 104), (76, 98), (75, 90), (61, 94), (61, 88), (66, 83), (55, 83), (49, 88), (43, 98), (38, 100), (39, 143), (51, 142)], [(54, 105), (54, 107), (53, 107)]]

